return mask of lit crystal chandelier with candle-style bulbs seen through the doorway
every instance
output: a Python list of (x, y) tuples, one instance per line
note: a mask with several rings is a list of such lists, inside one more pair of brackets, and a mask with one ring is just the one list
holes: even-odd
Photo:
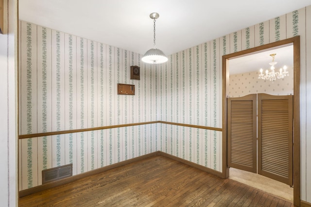
[(283, 69), (280, 68), (279, 72), (276, 72), (275, 71), (276, 68), (274, 67), (277, 64), (277, 62), (274, 62), (276, 54), (270, 54), (270, 56), (272, 57), (272, 63), (269, 63), (269, 65), (271, 65), (270, 72), (269, 70), (266, 70), (266, 74), (262, 74), (263, 69), (260, 69), (260, 74), (258, 75), (258, 79), (275, 81), (276, 78), (280, 79), (280, 78), (284, 78), (285, 76), (290, 76), (288, 71), (286, 71), (287, 69), (286, 66), (284, 66)]

